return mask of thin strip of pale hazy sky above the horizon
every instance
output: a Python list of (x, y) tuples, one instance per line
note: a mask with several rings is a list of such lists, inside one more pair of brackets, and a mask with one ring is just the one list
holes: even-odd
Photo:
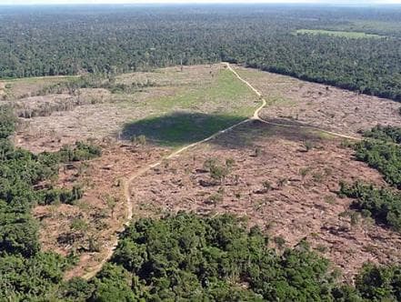
[(0, 5), (35, 4), (149, 4), (149, 3), (314, 3), (331, 5), (400, 4), (401, 0), (0, 0)]

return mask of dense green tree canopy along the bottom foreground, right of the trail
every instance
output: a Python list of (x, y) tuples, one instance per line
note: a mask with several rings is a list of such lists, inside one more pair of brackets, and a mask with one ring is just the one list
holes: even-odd
[(233, 216), (140, 219), (92, 280), (72, 279), (69, 301), (396, 301), (401, 267), (366, 264), (356, 286), (338, 282), (305, 241), (282, 254)]

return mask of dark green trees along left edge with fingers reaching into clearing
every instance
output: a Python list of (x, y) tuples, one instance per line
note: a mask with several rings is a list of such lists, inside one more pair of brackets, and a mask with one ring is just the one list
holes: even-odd
[[(58, 198), (72, 203), (82, 196), (80, 188), (55, 189), (50, 179), (66, 159), (98, 154), (95, 147), (78, 144), (71, 153), (34, 155), (13, 146), (8, 139), (15, 130), (12, 111), (0, 109), (0, 300), (32, 301), (48, 296), (62, 281), (74, 257), (41, 252), (38, 223), (31, 215), (35, 205)], [(38, 189), (39, 186), (44, 188)]]

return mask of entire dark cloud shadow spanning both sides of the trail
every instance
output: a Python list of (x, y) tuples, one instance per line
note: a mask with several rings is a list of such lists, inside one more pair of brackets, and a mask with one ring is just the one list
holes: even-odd
[[(145, 136), (147, 142), (157, 146), (184, 146), (203, 140), (243, 120), (246, 120), (245, 116), (176, 112), (126, 124), (123, 128), (122, 138), (129, 140), (132, 137)], [(272, 120), (272, 122), (293, 127), (249, 121), (237, 126), (232, 131), (217, 136), (210, 143), (226, 148), (246, 148), (255, 146), (258, 139), (267, 137), (299, 143), (317, 142), (329, 138), (319, 131), (298, 127), (301, 124), (296, 125), (295, 122), (279, 119)], [(307, 125), (302, 124), (302, 126)]]

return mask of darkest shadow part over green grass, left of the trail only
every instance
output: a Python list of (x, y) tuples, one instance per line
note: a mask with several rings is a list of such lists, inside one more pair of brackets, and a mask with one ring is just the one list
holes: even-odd
[(246, 116), (175, 112), (125, 124), (121, 138), (129, 140), (145, 136), (148, 142), (158, 146), (183, 146), (212, 136), (245, 119)]

